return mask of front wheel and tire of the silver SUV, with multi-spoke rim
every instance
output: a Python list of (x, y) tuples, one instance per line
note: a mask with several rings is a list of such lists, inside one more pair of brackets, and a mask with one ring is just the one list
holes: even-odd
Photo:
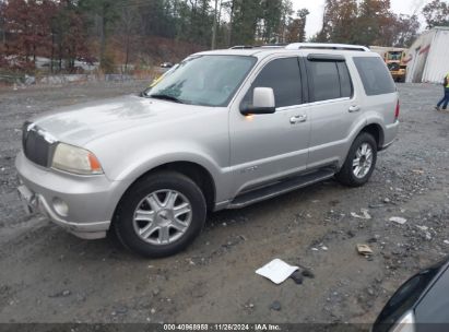
[(114, 226), (131, 251), (147, 258), (173, 256), (201, 233), (206, 203), (200, 188), (175, 171), (149, 175), (121, 199)]

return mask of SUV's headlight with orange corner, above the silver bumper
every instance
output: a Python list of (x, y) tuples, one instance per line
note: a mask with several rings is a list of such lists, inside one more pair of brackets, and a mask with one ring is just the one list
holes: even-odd
[(51, 167), (80, 175), (103, 174), (102, 165), (92, 152), (64, 143), (56, 146)]

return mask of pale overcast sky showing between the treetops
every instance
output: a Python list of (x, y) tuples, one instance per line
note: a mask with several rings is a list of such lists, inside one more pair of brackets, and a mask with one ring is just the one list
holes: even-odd
[[(307, 16), (307, 37), (314, 36), (321, 29), (324, 0), (292, 0), (295, 10), (307, 8), (310, 14)], [(391, 0), (391, 9), (397, 14), (413, 14), (430, 0)]]

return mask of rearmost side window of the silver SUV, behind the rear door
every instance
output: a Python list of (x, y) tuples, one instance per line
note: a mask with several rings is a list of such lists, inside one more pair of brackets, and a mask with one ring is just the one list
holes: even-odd
[(354, 57), (367, 96), (395, 92), (395, 85), (382, 59), (375, 57)]

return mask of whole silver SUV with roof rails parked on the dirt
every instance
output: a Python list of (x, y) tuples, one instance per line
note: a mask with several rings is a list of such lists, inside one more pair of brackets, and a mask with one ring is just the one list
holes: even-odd
[(114, 229), (131, 250), (166, 257), (192, 242), (208, 211), (332, 177), (365, 185), (398, 117), (393, 80), (364, 47), (206, 51), (141, 95), (27, 121), (19, 192), (79, 237)]

